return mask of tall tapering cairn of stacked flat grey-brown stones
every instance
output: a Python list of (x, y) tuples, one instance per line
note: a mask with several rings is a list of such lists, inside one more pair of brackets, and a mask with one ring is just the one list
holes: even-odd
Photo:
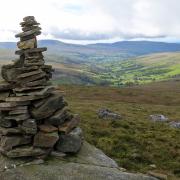
[(53, 69), (43, 59), (47, 48), (37, 47), (39, 23), (27, 16), (20, 25), (23, 32), (15, 36), (20, 38), (19, 58), (1, 70), (0, 152), (10, 158), (77, 153), (82, 145), (79, 117), (49, 82)]

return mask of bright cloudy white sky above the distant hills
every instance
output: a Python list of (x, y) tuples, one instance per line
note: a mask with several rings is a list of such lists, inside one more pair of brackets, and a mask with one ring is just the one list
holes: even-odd
[(41, 23), (39, 39), (180, 42), (180, 0), (1, 0), (0, 41), (18, 41), (28, 15)]

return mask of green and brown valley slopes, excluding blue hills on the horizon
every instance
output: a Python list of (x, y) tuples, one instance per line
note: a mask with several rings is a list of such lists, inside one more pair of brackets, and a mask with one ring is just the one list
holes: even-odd
[[(0, 65), (17, 58), (13, 54), (13, 50), (0, 49)], [(129, 60), (115, 60), (112, 55), (102, 57), (104, 60), (101, 61), (94, 60), (93, 56), (78, 59), (75, 55), (65, 57), (51, 51), (45, 53), (45, 57), (46, 62), (56, 69), (54, 81), (57, 84), (122, 86), (180, 76), (180, 52), (157, 53)]]

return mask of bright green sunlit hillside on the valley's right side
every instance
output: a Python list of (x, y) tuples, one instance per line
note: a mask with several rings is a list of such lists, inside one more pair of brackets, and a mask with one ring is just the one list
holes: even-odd
[(101, 76), (113, 85), (167, 80), (180, 76), (180, 52), (152, 54), (104, 66), (110, 71)]

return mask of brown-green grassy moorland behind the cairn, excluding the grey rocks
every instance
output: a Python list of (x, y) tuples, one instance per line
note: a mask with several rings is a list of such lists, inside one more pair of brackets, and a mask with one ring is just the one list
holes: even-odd
[[(179, 120), (179, 89), (179, 81), (122, 89), (60, 86), (72, 111), (80, 114), (90, 143), (130, 171), (147, 172), (150, 164), (156, 164), (156, 171), (176, 177), (180, 176), (180, 130), (148, 117), (161, 113), (170, 121)], [(122, 114), (122, 120), (99, 119), (96, 112), (101, 107)]]

